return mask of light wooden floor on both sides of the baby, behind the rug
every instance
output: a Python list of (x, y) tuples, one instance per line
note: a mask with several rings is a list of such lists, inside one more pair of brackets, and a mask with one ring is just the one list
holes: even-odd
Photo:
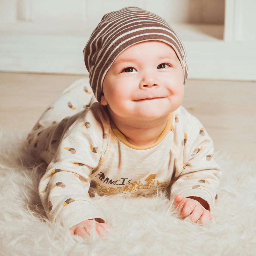
[[(0, 128), (28, 132), (45, 108), (83, 76), (0, 73)], [(188, 80), (183, 106), (221, 150), (256, 165), (256, 82)]]

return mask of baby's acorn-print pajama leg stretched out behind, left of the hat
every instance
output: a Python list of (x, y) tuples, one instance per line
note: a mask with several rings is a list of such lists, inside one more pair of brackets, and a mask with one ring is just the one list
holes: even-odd
[(28, 135), (31, 152), (49, 164), (60, 140), (80, 112), (96, 102), (89, 78), (76, 80), (43, 112)]

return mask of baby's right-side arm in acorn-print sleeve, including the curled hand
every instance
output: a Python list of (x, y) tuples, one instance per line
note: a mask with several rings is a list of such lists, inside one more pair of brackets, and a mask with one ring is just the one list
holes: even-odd
[(171, 187), (171, 198), (174, 198), (174, 205), (180, 210), (181, 218), (191, 214), (192, 222), (205, 223), (215, 219), (210, 211), (217, 198), (221, 171), (213, 159), (214, 149), (210, 136), (197, 119), (189, 121), (186, 140), (181, 148), (184, 167), (181, 172), (175, 173), (176, 181)]

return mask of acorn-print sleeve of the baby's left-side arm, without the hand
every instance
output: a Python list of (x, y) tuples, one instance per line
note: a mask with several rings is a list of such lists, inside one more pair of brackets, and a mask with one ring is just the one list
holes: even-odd
[[(98, 166), (107, 145), (109, 125), (102, 119), (97, 105), (82, 113), (64, 135), (55, 158), (39, 183), (40, 197), (49, 220), (55, 221), (58, 217), (68, 229), (90, 219), (98, 218), (104, 222), (88, 193), (89, 175)], [(76, 229), (73, 231), (76, 233)]]

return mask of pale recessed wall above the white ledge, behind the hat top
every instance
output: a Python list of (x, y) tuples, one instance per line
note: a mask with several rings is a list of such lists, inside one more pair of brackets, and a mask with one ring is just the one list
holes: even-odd
[(102, 16), (126, 6), (152, 11), (170, 23), (224, 23), (225, 0), (1, 0), (0, 22), (86, 22), (95, 27)]

